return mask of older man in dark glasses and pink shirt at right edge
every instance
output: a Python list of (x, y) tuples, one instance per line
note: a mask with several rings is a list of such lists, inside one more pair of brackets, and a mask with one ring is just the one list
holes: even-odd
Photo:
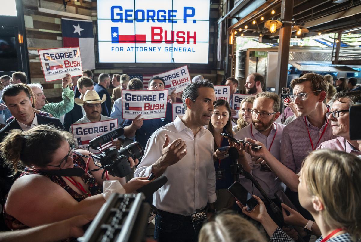
[(353, 155), (361, 155), (358, 143), (350, 139), (349, 108), (361, 99), (361, 91), (338, 92), (333, 96), (334, 104), (330, 112), (326, 113), (332, 126), (332, 134), (336, 139), (325, 141), (317, 149), (340, 150)]

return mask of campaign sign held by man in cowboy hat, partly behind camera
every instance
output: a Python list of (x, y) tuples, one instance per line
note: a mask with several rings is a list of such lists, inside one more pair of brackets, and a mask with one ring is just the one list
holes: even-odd
[[(84, 150), (88, 150), (87, 146), (89, 141), (116, 128), (118, 128), (117, 119), (71, 125), (79, 149)], [(94, 150), (92, 148), (90, 148), (90, 152), (94, 154), (100, 153), (99, 150)]]

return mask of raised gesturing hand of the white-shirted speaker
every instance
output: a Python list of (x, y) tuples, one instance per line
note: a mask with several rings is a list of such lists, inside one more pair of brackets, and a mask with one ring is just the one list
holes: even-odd
[(169, 167), (181, 160), (186, 154), (186, 142), (182, 139), (176, 139), (169, 144), (169, 137), (165, 135), (165, 141), (162, 151), (162, 163)]

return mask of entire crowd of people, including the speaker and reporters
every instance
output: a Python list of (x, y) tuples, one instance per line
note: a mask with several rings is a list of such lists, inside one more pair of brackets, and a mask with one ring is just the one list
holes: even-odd
[[(237, 79), (225, 81), (228, 102), (216, 100), (213, 83), (198, 75), (183, 92), (169, 94), (164, 118), (151, 120), (123, 119), (121, 92), (143, 90), (140, 79), (107, 73), (94, 79), (90, 70), (79, 78), (66, 74), (62, 100), (49, 103), (43, 86), (27, 83), (24, 73), (0, 77), (1, 225), (14, 230), (0, 237), (71, 241), (110, 194), (134, 193), (150, 176), (165, 175), (168, 182), (152, 201), (157, 241), (288, 242), (311, 234), (322, 242), (360, 241), (361, 141), (350, 138), (349, 113), (361, 100), (355, 78), (334, 82), (331, 75), (307, 73), (291, 81), (291, 94), (281, 100), (263, 91), (261, 74), (251, 73), (244, 86), (249, 96), (236, 110)], [(149, 80), (147, 90), (164, 89), (163, 78)], [(173, 121), (171, 104), (179, 102), (185, 113)], [(102, 176), (74, 141), (72, 125), (111, 119), (124, 129), (113, 147), (138, 141), (144, 148), (140, 161), (129, 157), (134, 174), (127, 178)], [(84, 174), (60, 172), (74, 167)], [(241, 198), (228, 190), (234, 182), (244, 187)], [(251, 209), (244, 204), (252, 198)], [(209, 221), (202, 228), (194, 221), (201, 212)]]

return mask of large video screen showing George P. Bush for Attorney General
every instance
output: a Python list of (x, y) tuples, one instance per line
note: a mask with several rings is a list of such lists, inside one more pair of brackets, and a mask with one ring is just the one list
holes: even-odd
[(97, 0), (99, 62), (208, 63), (209, 0)]

